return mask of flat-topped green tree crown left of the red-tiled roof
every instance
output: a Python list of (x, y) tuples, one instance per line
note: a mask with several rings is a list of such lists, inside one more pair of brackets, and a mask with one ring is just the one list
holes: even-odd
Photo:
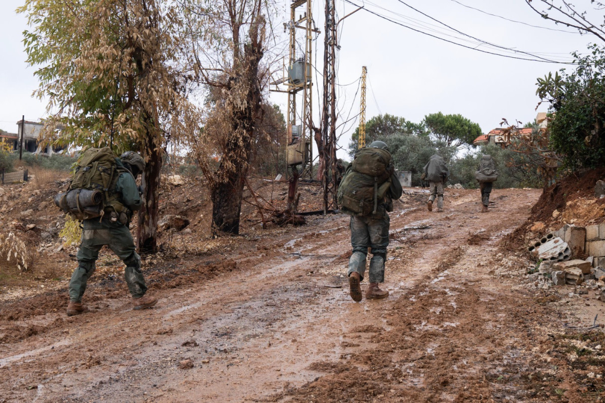
[(437, 112), (426, 115), (423, 123), (433, 138), (459, 150), (473, 146), (473, 140), (483, 133), (479, 124), (459, 114), (443, 115)]

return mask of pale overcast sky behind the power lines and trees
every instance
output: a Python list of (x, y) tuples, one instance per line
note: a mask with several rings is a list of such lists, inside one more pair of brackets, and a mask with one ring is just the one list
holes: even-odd
[[(571, 60), (569, 54), (572, 51), (584, 51), (587, 44), (594, 42), (591, 36), (581, 36), (571, 28), (557, 26), (540, 18), (523, 0), (405, 0), (406, 4), (434, 20), (467, 34), (466, 37), (408, 8), (401, 0), (350, 1), (365, 3), (367, 10), (401, 24), (485, 51), (495, 49), (479, 44), (477, 40), (526, 51), (546, 59)], [(280, 10), (283, 21), (289, 18), (289, 3), (283, 1)], [(25, 115), (27, 120), (39, 120), (45, 116), (45, 103), (31, 97), (38, 82), (33, 76), (34, 68), (25, 63), (21, 33), (27, 25), (25, 17), (15, 13), (15, 8), (21, 4), (22, 0), (0, 2), (0, 26), (3, 28), (0, 54), (4, 56), (0, 64), (0, 128), (13, 133), (17, 131), (16, 121), (21, 119), (21, 115)], [(313, 4), (313, 17), (318, 28), (324, 31), (323, 2)], [(356, 8), (346, 0), (336, 0), (336, 5), (339, 17)], [(557, 63), (507, 59), (462, 48), (381, 19), (367, 10), (358, 11), (339, 25), (339, 106), (344, 117), (349, 112), (350, 117), (359, 113), (359, 94), (354, 97), (358, 91), (361, 68), (365, 65), (368, 68), (367, 120), (380, 113), (389, 113), (419, 122), (425, 115), (440, 111), (444, 114), (462, 114), (479, 123), (486, 133), (498, 127), (501, 118), (525, 123), (532, 121), (538, 111), (546, 111), (546, 106), (534, 110), (538, 103), (535, 96), (536, 78), (565, 67)], [(486, 13), (551, 29), (530, 27)], [(603, 20), (602, 12), (593, 11), (592, 15), (595, 21)], [(316, 68), (322, 71), (320, 51), (323, 36), (317, 40)], [(498, 52), (534, 58), (511, 51)], [(319, 111), (316, 91), (313, 98), (314, 109)], [(285, 112), (285, 94), (273, 93), (270, 100), (282, 106)], [(350, 134), (357, 124), (355, 120), (346, 126), (340, 146), (347, 147)], [(344, 155), (344, 150), (339, 152), (339, 156)]]

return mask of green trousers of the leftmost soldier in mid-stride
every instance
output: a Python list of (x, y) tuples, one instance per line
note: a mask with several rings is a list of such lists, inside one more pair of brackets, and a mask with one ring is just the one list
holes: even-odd
[(86, 284), (96, 268), (95, 262), (104, 245), (122, 259), (126, 265), (124, 277), (132, 297), (145, 295), (147, 286), (141, 272), (141, 258), (134, 247), (134, 240), (126, 225), (112, 228), (85, 229), (82, 231), (82, 243), (77, 252), (78, 266), (71, 275), (70, 300), (81, 301)]

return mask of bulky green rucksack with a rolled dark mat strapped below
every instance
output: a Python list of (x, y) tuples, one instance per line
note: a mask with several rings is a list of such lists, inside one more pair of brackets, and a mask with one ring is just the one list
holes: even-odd
[(122, 172), (128, 171), (110, 147), (89, 148), (77, 160), (67, 193), (54, 196), (54, 203), (78, 220), (102, 217), (107, 211), (125, 212), (127, 208), (115, 192)]

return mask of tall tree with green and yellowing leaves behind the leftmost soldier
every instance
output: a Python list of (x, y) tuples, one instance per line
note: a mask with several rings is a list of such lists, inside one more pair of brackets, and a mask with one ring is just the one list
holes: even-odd
[(195, 25), (184, 24), (189, 11), (168, 0), (25, 0), (18, 11), (32, 27), (23, 42), (28, 62), (39, 66), (35, 94), (57, 111), (46, 120), (45, 139), (142, 153), (137, 242), (140, 252), (156, 251), (163, 143), (200, 120), (187, 99), (199, 75)]

